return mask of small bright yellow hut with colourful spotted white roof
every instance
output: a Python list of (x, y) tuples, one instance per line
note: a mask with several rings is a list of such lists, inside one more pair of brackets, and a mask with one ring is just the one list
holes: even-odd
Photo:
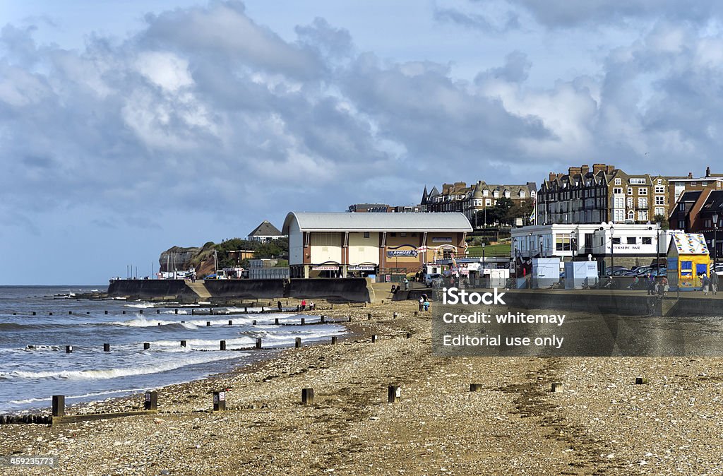
[(711, 258), (701, 233), (672, 235), (668, 247), (668, 283), (672, 289), (699, 291), (701, 276), (708, 276)]

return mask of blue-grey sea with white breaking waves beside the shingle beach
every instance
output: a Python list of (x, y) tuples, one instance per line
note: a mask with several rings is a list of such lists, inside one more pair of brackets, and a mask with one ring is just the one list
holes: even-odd
[[(262, 347), (278, 349), (293, 347), (296, 337), (306, 344), (346, 332), (335, 324), (275, 326), (276, 318), (313, 323), (320, 316), (260, 314), (260, 307), (245, 314), (214, 306), (215, 315), (192, 315), (192, 309), (208, 313), (209, 306), (75, 298), (105, 290), (0, 286), (0, 414), (48, 409), (53, 395), (64, 395), (68, 405), (101, 401), (233, 370), (273, 356), (266, 350), (231, 351), (254, 347), (259, 337)], [(226, 352), (219, 350), (221, 340)], [(103, 352), (103, 344), (110, 344), (110, 352)]]

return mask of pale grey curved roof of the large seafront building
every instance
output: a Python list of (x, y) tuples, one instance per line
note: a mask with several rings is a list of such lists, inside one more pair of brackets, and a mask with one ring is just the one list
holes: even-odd
[(301, 231), (472, 231), (462, 213), (346, 213), (290, 212), (283, 221), (288, 234), (291, 221)]

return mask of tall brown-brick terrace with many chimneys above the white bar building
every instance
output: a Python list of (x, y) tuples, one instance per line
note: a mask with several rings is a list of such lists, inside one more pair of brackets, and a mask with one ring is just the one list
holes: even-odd
[(550, 172), (537, 194), (537, 224), (646, 224), (668, 216), (668, 179), (627, 174), (613, 165)]

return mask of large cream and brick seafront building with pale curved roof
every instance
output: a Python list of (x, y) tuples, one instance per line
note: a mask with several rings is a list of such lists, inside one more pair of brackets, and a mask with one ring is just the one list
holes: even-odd
[(463, 252), (468, 231), (462, 213), (291, 212), (282, 229), (292, 278), (414, 273)]

